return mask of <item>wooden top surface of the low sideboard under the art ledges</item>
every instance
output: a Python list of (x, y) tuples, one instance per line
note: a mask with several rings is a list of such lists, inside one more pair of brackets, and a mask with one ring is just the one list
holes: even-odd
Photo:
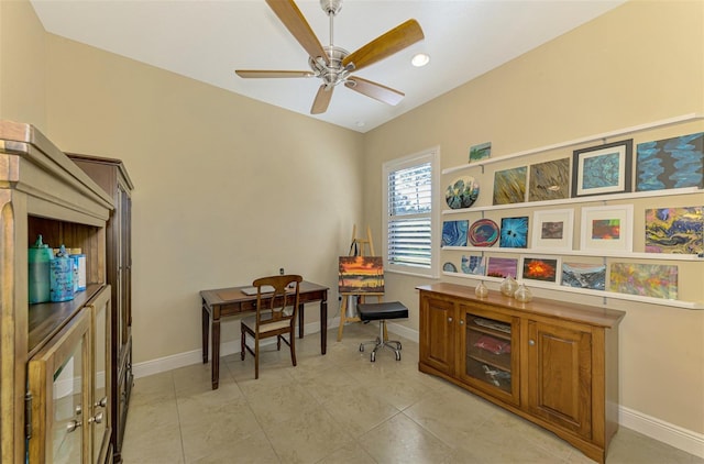
[(458, 284), (438, 283), (432, 285), (424, 285), (417, 287), (418, 290), (462, 298), (472, 302), (490, 305), (503, 309), (518, 311), (521, 314), (558, 317), (561, 319), (573, 320), (591, 325), (612, 328), (626, 316), (626, 312), (602, 308), (597, 306), (578, 305), (566, 301), (551, 300), (547, 298), (534, 298), (530, 302), (520, 302), (514, 298), (508, 298), (501, 292), (494, 290), (485, 298), (479, 298), (474, 295), (474, 288)]

